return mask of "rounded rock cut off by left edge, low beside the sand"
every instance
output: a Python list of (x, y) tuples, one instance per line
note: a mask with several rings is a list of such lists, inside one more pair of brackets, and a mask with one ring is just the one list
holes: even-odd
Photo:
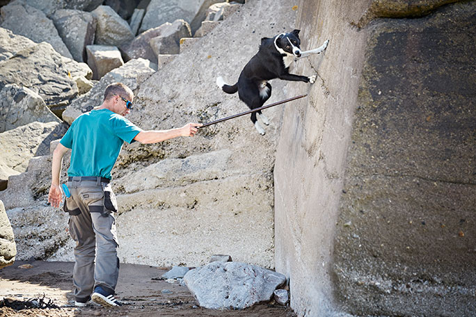
[(0, 269), (13, 264), (16, 255), (17, 245), (13, 229), (10, 220), (8, 220), (5, 206), (0, 200)]

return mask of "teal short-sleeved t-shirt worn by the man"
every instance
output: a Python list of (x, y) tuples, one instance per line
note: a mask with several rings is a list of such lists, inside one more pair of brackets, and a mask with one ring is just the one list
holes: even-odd
[(60, 143), (71, 152), (68, 176), (111, 179), (111, 170), (124, 141), (132, 143), (142, 129), (109, 109), (83, 113), (71, 124)]

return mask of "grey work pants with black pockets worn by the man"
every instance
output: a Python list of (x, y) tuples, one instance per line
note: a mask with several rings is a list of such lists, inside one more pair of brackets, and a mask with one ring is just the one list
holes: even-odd
[(71, 193), (65, 202), (70, 213), (70, 236), (76, 242), (74, 297), (84, 302), (95, 286), (112, 293), (116, 288), (119, 275), (116, 218), (104, 207), (104, 187), (110, 190), (109, 184), (73, 177), (67, 186)]

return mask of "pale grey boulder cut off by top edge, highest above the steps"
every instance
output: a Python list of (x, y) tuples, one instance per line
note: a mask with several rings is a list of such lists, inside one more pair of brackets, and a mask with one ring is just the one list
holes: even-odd
[(201, 22), (207, 15), (207, 9), (214, 3), (224, 2), (220, 0), (152, 0), (147, 7), (139, 33), (148, 29), (154, 29), (165, 22), (173, 22), (176, 19), (184, 19), (191, 26), (192, 33), (200, 27)]

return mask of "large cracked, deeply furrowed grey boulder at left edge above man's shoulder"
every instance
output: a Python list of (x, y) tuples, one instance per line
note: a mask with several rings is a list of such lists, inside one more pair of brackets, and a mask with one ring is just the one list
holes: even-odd
[(61, 106), (78, 94), (77, 85), (68, 72), (63, 56), (49, 43), (42, 42), (0, 62), (0, 89), (8, 83), (16, 83), (38, 93), (49, 108)]

